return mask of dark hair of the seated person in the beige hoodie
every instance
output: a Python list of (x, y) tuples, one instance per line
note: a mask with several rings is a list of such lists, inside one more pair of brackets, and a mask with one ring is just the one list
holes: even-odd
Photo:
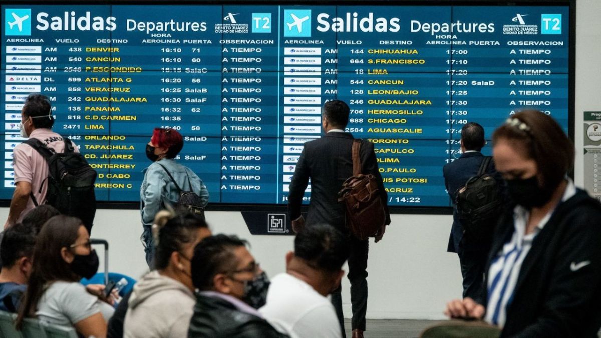
[[(164, 215), (164, 214), (157, 214)], [(154, 268), (162, 270), (169, 265), (171, 254), (181, 252), (184, 244), (196, 241), (196, 231), (208, 228), (204, 218), (191, 214), (187, 209), (178, 209), (174, 215), (166, 213), (165, 217), (157, 217), (157, 233), (154, 244)]]

